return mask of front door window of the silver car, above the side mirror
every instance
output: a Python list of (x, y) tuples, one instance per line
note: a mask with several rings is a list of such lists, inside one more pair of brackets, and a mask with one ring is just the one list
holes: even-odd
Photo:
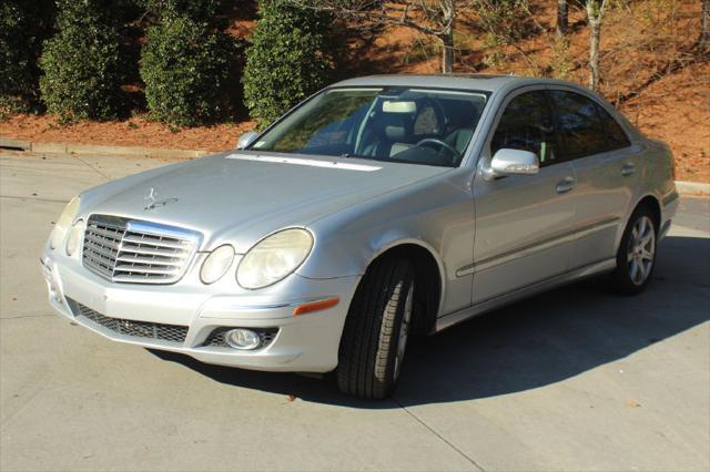
[(501, 148), (530, 151), (540, 166), (557, 162), (557, 142), (545, 92), (521, 93), (508, 103), (490, 142), (490, 153)]

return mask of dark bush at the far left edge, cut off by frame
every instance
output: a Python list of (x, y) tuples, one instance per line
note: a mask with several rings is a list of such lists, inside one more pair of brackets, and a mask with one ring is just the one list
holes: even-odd
[(0, 109), (29, 111), (40, 105), (42, 41), (54, 22), (51, 0), (0, 2)]

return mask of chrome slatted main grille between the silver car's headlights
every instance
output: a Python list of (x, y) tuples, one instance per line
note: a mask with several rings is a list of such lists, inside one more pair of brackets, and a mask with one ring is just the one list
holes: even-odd
[(200, 234), (173, 226), (91, 215), (83, 245), (84, 267), (112, 281), (172, 284), (187, 268)]

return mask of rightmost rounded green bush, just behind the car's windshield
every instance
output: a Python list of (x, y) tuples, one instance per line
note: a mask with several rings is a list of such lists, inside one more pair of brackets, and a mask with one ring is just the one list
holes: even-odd
[(262, 0), (242, 76), (244, 102), (258, 126), (331, 82), (338, 52), (332, 16)]

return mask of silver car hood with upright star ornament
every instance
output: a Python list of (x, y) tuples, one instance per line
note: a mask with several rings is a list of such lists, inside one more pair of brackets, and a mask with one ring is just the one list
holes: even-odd
[(256, 240), (450, 171), (447, 167), (301, 155), (217, 154), (90, 191), (87, 214), (194, 229), (202, 250), (246, 252)]

